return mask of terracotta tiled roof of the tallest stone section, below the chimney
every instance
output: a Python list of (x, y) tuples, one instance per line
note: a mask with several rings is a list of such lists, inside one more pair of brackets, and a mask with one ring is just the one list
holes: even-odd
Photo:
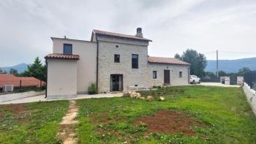
[(97, 29), (92, 30), (92, 32), (94, 34), (103, 35), (103, 36), (124, 37), (124, 38), (128, 38), (128, 39), (138, 39), (138, 40), (152, 42), (151, 39), (146, 39), (146, 38), (143, 38), (143, 37), (136, 37), (134, 35), (118, 34), (118, 33), (113, 33), (113, 32), (108, 32), (108, 31), (100, 31), (100, 30), (97, 30)]

